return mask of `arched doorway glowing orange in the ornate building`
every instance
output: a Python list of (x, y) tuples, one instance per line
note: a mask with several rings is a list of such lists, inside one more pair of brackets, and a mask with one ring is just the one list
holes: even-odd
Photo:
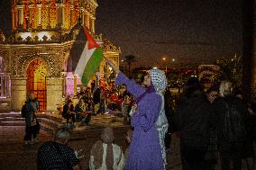
[(45, 111), (47, 67), (44, 62), (39, 58), (33, 59), (27, 68), (27, 76), (27, 92), (35, 95), (40, 102), (40, 111)]

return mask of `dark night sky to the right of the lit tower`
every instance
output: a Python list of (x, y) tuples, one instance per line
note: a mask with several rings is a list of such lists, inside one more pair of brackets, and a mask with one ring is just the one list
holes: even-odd
[[(96, 34), (135, 66), (195, 67), (242, 54), (242, 0), (97, 0)], [(172, 62), (171, 59), (176, 61)]]

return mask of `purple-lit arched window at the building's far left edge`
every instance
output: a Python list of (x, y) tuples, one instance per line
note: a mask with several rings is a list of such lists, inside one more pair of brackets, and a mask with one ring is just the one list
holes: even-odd
[(7, 95), (7, 82), (5, 59), (0, 57), (0, 98), (5, 98)]

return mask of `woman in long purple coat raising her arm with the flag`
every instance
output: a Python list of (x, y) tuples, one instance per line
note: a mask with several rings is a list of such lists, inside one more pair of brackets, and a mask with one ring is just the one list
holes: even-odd
[(114, 64), (106, 59), (117, 73), (115, 85), (127, 85), (127, 90), (135, 97), (136, 109), (133, 113), (133, 139), (125, 170), (162, 170), (165, 161), (160, 147), (157, 123), (162, 111), (162, 96), (158, 93), (167, 85), (165, 74), (160, 69), (151, 69), (144, 77), (143, 84), (136, 84), (124, 76)]

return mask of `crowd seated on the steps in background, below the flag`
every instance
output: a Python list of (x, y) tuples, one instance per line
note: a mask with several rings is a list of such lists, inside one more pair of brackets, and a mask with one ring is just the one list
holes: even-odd
[(133, 106), (133, 96), (125, 90), (116, 89), (112, 85), (99, 86), (95, 89), (85, 87), (74, 99), (68, 98), (67, 102), (60, 109), (61, 115), (66, 119), (68, 126), (74, 127), (76, 122), (88, 124), (92, 115), (97, 114), (118, 114), (124, 121), (129, 122), (129, 112)]

